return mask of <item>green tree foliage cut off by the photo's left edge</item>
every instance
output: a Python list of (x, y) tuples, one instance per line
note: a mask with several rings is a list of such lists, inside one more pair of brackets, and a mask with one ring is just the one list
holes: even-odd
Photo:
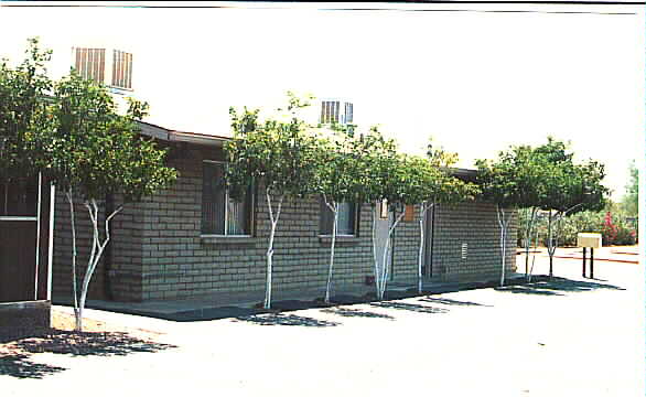
[(9, 182), (37, 173), (40, 137), (52, 128), (45, 100), (52, 88), (45, 64), (52, 52), (29, 40), (28, 57), (15, 68), (0, 62), (0, 180)]

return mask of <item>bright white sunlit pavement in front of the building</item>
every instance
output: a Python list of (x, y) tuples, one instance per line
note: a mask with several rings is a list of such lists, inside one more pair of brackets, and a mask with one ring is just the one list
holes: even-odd
[[(604, 254), (636, 257), (595, 257)], [(535, 273), (546, 264), (539, 255)], [(583, 279), (579, 259), (559, 258), (555, 273), (564, 279), (550, 283), (240, 320), (90, 310), (97, 320), (160, 332), (159, 343), (176, 347), (34, 354), (40, 369), (31, 378), (0, 375), (1, 395), (83, 387), (93, 396), (643, 396), (644, 272), (602, 260), (594, 272), (596, 280)]]

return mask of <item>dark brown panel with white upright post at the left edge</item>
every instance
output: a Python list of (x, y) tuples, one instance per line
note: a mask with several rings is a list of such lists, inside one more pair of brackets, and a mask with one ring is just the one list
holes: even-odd
[(0, 302), (50, 299), (51, 200), (40, 176), (0, 184)]

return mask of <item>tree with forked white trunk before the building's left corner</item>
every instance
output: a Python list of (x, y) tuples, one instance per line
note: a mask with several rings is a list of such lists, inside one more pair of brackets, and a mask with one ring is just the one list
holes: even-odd
[[(76, 331), (83, 330), (83, 310), (89, 282), (110, 242), (109, 223), (123, 208), (119, 205), (105, 218), (99, 232), (99, 202), (107, 194), (121, 194), (123, 203), (136, 202), (170, 185), (175, 170), (164, 165), (165, 151), (152, 139), (139, 135), (136, 120), (148, 105), (130, 100), (127, 115), (117, 112), (108, 90), (75, 72), (54, 85), (47, 110), (55, 128), (42, 137), (45, 155), (40, 170), (62, 191), (69, 203), (72, 223), (72, 272)], [(91, 250), (80, 294), (76, 275), (76, 228), (74, 197), (80, 196), (93, 225)]]

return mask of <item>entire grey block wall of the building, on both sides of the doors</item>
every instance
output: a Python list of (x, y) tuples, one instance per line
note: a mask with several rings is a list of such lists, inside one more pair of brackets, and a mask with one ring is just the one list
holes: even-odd
[[(266, 282), (269, 213), (262, 194), (255, 206), (249, 238), (202, 237), (202, 163), (222, 159), (215, 149), (175, 148), (170, 165), (180, 178), (172, 187), (141, 203), (127, 204), (112, 221), (109, 271), (99, 264), (90, 298), (119, 301), (184, 299), (214, 294), (261, 296)], [(118, 197), (116, 203), (119, 203)], [(67, 202), (58, 193), (55, 221), (54, 297), (71, 296), (71, 233)], [(99, 215), (103, 217), (103, 213)], [(412, 221), (395, 232), (392, 280), (414, 282), (419, 248), (419, 207)], [(330, 260), (330, 239), (319, 237), (316, 198), (287, 200), (278, 223), (273, 255), (273, 291), (309, 291), (321, 296)], [(334, 291), (367, 291), (373, 276), (372, 206), (362, 205), (358, 235), (340, 238), (334, 262)], [(85, 270), (90, 228), (86, 208), (77, 203), (78, 266)], [(515, 227), (515, 222), (512, 229)], [(430, 233), (427, 232), (427, 233)], [(435, 280), (499, 277), (499, 229), (491, 204), (439, 205), (435, 208), (432, 276)], [(514, 233), (507, 269), (515, 269)], [(467, 255), (462, 258), (462, 244)], [(108, 278), (109, 282), (106, 282)]]

